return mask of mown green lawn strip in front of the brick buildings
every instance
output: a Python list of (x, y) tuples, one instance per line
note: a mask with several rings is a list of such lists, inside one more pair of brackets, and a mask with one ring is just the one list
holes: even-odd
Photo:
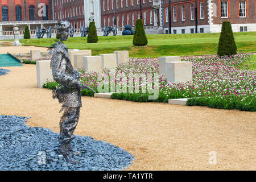
[[(172, 34), (147, 35), (148, 44), (144, 47), (133, 46), (131, 36), (99, 36), (98, 43), (87, 43), (87, 38), (68, 38), (65, 44), (70, 49), (92, 49), (93, 55), (128, 50), (131, 57), (159, 57), (205, 55), (217, 52), (219, 33), (212, 34)], [(256, 32), (234, 32), (238, 52), (255, 52)], [(51, 39), (21, 39), (23, 46), (49, 47)]]

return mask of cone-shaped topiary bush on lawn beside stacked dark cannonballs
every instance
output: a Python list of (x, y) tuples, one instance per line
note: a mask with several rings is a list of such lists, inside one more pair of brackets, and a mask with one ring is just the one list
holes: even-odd
[(142, 19), (136, 20), (135, 32), (134, 32), (134, 36), (133, 36), (133, 45), (134, 46), (146, 46), (147, 45), (147, 37), (145, 34)]

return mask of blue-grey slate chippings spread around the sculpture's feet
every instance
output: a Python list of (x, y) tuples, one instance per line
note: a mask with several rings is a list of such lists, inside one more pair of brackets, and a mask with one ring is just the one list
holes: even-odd
[(80, 164), (69, 164), (59, 152), (59, 134), (24, 125), (25, 119), (0, 115), (0, 170), (120, 170), (133, 160), (110, 143), (76, 136), (72, 147), (81, 154), (73, 158)]

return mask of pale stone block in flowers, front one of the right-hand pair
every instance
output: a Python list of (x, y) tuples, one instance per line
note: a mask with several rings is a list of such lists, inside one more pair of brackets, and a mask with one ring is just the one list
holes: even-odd
[(179, 61), (166, 63), (167, 82), (192, 81), (192, 62)]

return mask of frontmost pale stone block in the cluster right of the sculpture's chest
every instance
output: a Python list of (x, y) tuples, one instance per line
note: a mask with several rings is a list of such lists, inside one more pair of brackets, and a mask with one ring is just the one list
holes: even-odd
[(102, 69), (101, 56), (84, 56), (84, 70), (100, 72)]

